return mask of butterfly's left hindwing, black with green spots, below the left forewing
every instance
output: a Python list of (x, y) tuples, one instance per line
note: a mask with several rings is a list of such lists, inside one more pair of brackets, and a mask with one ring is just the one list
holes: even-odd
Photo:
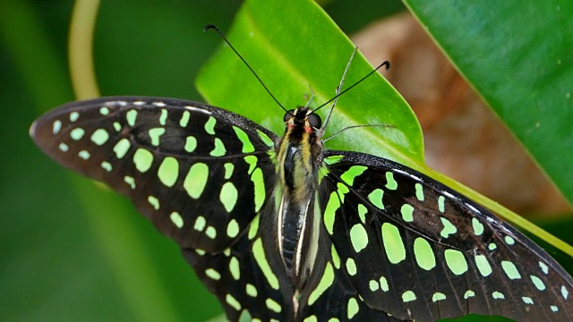
[[(260, 231), (261, 229), (261, 231)], [(203, 284), (213, 292), (231, 321), (292, 320), (294, 292), (280, 269), (276, 243), (264, 239), (260, 216), (229, 249), (209, 254), (183, 250)], [(289, 318), (290, 317), (290, 318)]]

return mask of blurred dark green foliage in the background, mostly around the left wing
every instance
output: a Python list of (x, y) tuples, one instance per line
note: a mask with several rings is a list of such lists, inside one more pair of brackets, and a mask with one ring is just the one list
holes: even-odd
[[(227, 0), (103, 2), (94, 45), (101, 93), (202, 100), (193, 80), (220, 39), (201, 30), (207, 23), (227, 30), (239, 5)], [(325, 5), (346, 32), (401, 6), (374, 0)], [(69, 0), (0, 4), (0, 101), (7, 112), (0, 126), (0, 319), (217, 316), (218, 302), (175, 243), (126, 199), (65, 171), (28, 137), (38, 114), (73, 100), (66, 53), (72, 9)], [(94, 201), (102, 199), (105, 204)], [(570, 227), (547, 228), (564, 236)]]

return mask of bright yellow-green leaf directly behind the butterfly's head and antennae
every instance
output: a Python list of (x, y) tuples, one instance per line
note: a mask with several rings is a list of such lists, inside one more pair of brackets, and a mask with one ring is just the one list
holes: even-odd
[[(334, 97), (354, 50), (321, 7), (302, 0), (247, 1), (235, 17), (228, 38), (286, 109), (304, 106), (311, 92), (314, 106)], [(343, 89), (372, 72), (372, 68), (362, 55), (355, 55)], [(284, 131), (284, 112), (227, 45), (219, 47), (202, 69), (197, 88), (210, 104), (244, 114), (279, 134)], [(322, 115), (327, 112), (326, 107), (321, 110)], [(328, 147), (360, 150), (423, 166), (422, 132), (415, 115), (379, 74), (340, 97), (327, 137), (356, 124), (390, 127), (348, 130), (340, 137), (351, 135), (363, 140), (332, 140)]]

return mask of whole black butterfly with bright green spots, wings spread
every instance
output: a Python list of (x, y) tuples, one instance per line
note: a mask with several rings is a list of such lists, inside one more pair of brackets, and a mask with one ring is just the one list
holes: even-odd
[(230, 320), (573, 321), (573, 279), (524, 234), (404, 165), (325, 150), (306, 106), (284, 122), (279, 137), (202, 103), (102, 97), (30, 135), (132, 199)]

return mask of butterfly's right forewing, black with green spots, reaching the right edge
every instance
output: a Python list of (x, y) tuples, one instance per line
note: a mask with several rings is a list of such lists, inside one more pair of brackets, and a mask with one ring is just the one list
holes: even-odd
[[(484, 208), (389, 160), (328, 151), (324, 223), (372, 309), (431, 321), (467, 313), (573, 318), (571, 277)], [(327, 188), (331, 187), (331, 188)]]

